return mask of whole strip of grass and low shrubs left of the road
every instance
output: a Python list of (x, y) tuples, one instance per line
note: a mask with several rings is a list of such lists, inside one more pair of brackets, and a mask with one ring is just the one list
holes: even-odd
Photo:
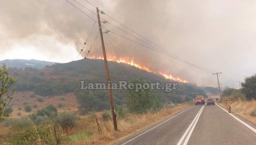
[[(3, 144), (56, 144), (54, 126), (58, 144), (108, 144), (140, 129), (152, 125), (176, 112), (192, 105), (179, 104), (170, 108), (130, 113), (117, 107), (118, 131), (114, 131), (110, 110), (92, 112), (78, 116), (69, 112), (57, 112), (51, 105), (36, 113), (21, 118), (5, 118), (0, 122), (0, 142)], [(96, 123), (98, 121), (98, 126)], [(99, 130), (98, 130), (99, 127)]]

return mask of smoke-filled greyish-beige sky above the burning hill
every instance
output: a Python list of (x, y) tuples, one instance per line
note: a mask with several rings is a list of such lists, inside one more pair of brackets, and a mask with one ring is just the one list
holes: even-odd
[[(96, 8), (85, 0), (76, 1), (92, 12), (74, 0), (68, 1), (96, 20), (92, 14)], [(220, 86), (238, 88), (237, 81), (243, 81), (244, 77), (256, 72), (255, 0), (88, 2), (183, 60), (212, 71), (202, 71), (115, 35), (117, 33), (148, 47), (154, 45), (124, 33), (128, 31), (143, 39), (101, 14), (104, 20), (124, 30), (110, 23), (102, 24), (110, 30), (110, 33), (104, 34), (107, 56), (134, 58), (134, 61), (153, 71), (172, 74), (200, 86), (218, 86), (212, 72), (222, 72)], [(94, 20), (66, 0), (1, 0), (0, 6), (0, 60), (76, 61), (86, 56), (98, 33), (98, 24), (94, 25)], [(87, 37), (86, 51), (78, 58)], [(99, 38), (89, 53), (89, 56), (92, 55), (102, 56)]]

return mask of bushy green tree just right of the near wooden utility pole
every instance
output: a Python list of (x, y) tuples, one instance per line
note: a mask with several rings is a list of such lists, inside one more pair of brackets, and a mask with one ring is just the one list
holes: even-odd
[[(136, 86), (136, 84), (143, 85), (146, 81), (143, 78), (134, 78), (130, 80), (130, 83)], [(134, 113), (144, 113), (150, 109), (162, 108), (162, 104), (156, 98), (153, 90), (142, 88), (136, 92), (135, 87), (132, 90), (126, 91), (126, 106), (129, 112)]]

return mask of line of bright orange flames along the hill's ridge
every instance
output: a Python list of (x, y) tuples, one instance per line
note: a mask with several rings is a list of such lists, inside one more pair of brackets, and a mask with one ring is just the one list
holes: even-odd
[[(104, 60), (103, 57), (95, 57), (94, 55), (92, 57), (87, 57), (87, 58), (88, 59), (102, 59), (102, 60)], [(134, 66), (138, 69), (141, 69), (141, 70), (144, 70), (144, 71), (147, 71), (147, 72), (153, 72), (155, 74), (160, 74), (161, 76), (164, 76), (164, 78), (166, 78), (166, 79), (179, 81), (179, 82), (183, 82), (183, 83), (188, 83), (187, 80), (183, 80), (180, 77), (174, 77), (174, 76), (172, 76), (172, 74), (168, 75), (168, 74), (165, 74), (161, 71), (160, 72), (154, 72), (146, 66), (135, 63), (134, 62), (134, 57), (132, 57), (132, 59), (129, 59), (128, 57), (119, 57), (119, 58), (117, 58), (116, 56), (112, 56), (112, 57), (107, 57), (107, 60), (108, 61), (114, 61), (114, 62), (117, 62), (117, 63), (125, 63), (125, 64), (132, 65), (132, 66)]]

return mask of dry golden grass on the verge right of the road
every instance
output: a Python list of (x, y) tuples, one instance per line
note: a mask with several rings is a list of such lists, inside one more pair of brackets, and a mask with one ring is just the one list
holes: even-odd
[[(224, 103), (221, 105), (225, 107)], [(231, 108), (231, 112), (256, 125), (256, 117), (250, 116), (250, 113), (256, 108), (256, 100), (236, 101), (232, 103)]]

